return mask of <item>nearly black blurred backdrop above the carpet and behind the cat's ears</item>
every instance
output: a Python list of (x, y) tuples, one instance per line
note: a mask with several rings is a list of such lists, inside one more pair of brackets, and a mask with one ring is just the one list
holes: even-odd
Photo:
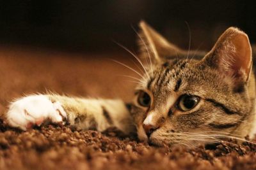
[(1, 45), (77, 52), (113, 52), (118, 41), (136, 50), (143, 19), (183, 48), (209, 49), (234, 25), (256, 40), (255, 4), (249, 1), (0, 1)]

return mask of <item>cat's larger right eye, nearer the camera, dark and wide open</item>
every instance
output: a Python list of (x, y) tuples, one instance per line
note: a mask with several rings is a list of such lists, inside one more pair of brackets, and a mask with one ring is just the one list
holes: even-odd
[(199, 100), (200, 98), (198, 96), (189, 96), (187, 94), (184, 94), (180, 97), (177, 106), (181, 111), (189, 111), (195, 108)]

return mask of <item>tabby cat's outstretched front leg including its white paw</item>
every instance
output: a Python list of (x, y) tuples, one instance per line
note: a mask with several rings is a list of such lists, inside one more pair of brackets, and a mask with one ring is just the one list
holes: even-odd
[(129, 134), (134, 131), (125, 103), (110, 99), (84, 99), (56, 94), (22, 97), (10, 104), (6, 120), (26, 131), (45, 120), (70, 124), (77, 129), (105, 131), (109, 127)]

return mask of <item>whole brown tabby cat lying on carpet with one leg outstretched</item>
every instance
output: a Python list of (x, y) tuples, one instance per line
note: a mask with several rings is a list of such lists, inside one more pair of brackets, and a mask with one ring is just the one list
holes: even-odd
[(159, 146), (253, 138), (255, 76), (246, 33), (230, 27), (209, 52), (189, 52), (146, 22), (139, 26), (140, 57), (149, 64), (134, 90), (134, 101), (31, 95), (10, 104), (7, 124), (24, 131), (45, 120), (100, 132), (116, 127)]

